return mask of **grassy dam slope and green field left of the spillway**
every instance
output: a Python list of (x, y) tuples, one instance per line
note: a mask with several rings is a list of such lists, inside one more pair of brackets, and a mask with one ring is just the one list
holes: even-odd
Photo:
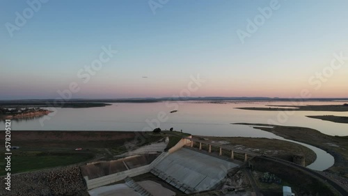
[[(44, 168), (111, 160), (127, 151), (125, 143), (137, 138), (139, 144), (148, 145), (163, 138), (161, 134), (126, 131), (15, 131), (11, 133), (11, 174)], [(2, 137), (1, 137), (2, 138)], [(2, 141), (4, 143), (4, 141)], [(81, 151), (75, 151), (81, 148)], [(0, 149), (4, 154), (5, 149)], [(0, 159), (0, 175), (6, 174), (4, 158)]]

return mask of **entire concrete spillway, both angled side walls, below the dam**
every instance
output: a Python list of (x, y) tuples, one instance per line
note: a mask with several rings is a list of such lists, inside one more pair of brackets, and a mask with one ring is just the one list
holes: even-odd
[(81, 172), (88, 190), (151, 172), (184, 193), (196, 193), (215, 188), (232, 168), (239, 166), (183, 148), (190, 145), (191, 140), (182, 138), (168, 152), (91, 163), (81, 166)]

